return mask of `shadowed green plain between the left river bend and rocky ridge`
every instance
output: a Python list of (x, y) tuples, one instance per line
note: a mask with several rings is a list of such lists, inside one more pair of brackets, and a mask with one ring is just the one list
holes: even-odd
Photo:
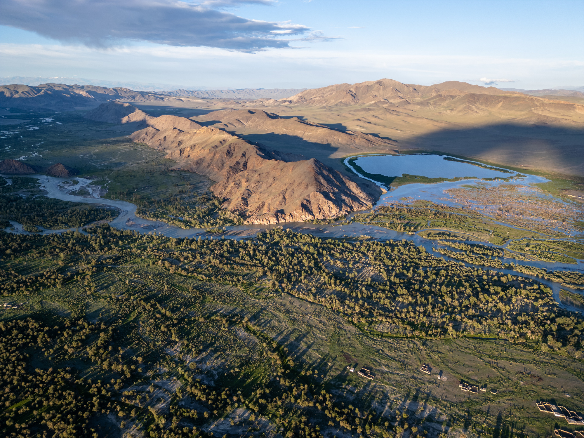
[[(62, 162), (79, 169), (80, 176), (102, 187), (102, 197), (128, 200), (139, 207), (138, 215), (149, 219), (183, 228), (241, 223), (237, 214), (219, 208), (221, 200), (208, 191), (212, 181), (196, 173), (170, 171), (175, 162), (164, 158), (164, 152), (132, 142), (127, 135), (135, 127), (89, 121), (76, 112), (32, 114), (33, 120), (53, 121), (5, 131), (2, 158), (26, 154), (27, 164), (40, 168)], [(0, 187), (2, 193), (41, 193), (34, 179), (13, 181), (17, 184)]]

